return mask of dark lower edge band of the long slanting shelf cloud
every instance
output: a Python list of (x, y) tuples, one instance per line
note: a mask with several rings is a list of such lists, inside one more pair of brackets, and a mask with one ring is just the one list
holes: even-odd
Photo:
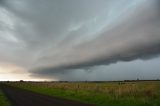
[[(156, 47), (157, 46), (157, 47)], [(76, 69), (82, 69), (86, 72), (92, 71), (90, 69), (92, 66), (97, 66), (97, 65), (109, 65), (112, 63), (117, 63), (118, 61), (132, 61), (135, 59), (143, 59), (143, 60), (148, 60), (151, 58), (154, 58), (159, 55), (160, 52), (160, 44), (152, 46), (152, 47), (147, 47), (144, 50), (137, 50), (135, 53), (131, 52), (126, 55), (124, 54), (117, 54), (112, 57), (103, 57), (99, 58), (96, 60), (92, 60), (92, 62), (83, 62), (81, 64), (72, 64), (72, 65), (63, 65), (60, 67), (41, 67), (36, 70), (32, 70), (34, 74), (40, 74), (40, 76), (59, 76), (61, 74), (66, 74), (66, 73), (72, 73), (73, 71), (77, 71)], [(152, 51), (151, 51), (152, 50)], [(147, 53), (147, 54), (146, 54)], [(133, 55), (132, 55), (133, 54)], [(128, 55), (128, 56), (127, 56)], [(75, 70), (73, 70), (75, 69)]]

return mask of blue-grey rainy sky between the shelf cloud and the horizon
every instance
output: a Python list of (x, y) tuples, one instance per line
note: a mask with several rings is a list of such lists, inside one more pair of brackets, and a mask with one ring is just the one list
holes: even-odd
[[(159, 79), (159, 62), (160, 58), (154, 58), (147, 61), (134, 60), (130, 62), (118, 62), (113, 65), (100, 65), (91, 68), (92, 72), (88, 73), (83, 69), (75, 69), (71, 72), (55, 73), (53, 74), (34, 74), (36, 77), (42, 78), (57, 78), (57, 80), (70, 80), (70, 81), (115, 81), (115, 80), (136, 80), (146, 79), (153, 80)], [(69, 71), (69, 70), (68, 70)], [(33, 74), (32, 74), (33, 75)]]

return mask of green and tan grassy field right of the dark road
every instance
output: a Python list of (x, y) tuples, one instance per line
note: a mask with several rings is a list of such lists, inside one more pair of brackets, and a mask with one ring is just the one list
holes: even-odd
[(160, 81), (10, 82), (7, 85), (96, 106), (160, 106)]

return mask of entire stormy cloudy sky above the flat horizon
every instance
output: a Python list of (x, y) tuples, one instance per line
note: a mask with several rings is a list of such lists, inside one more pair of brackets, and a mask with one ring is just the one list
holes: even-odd
[(0, 80), (160, 79), (159, 0), (0, 0)]

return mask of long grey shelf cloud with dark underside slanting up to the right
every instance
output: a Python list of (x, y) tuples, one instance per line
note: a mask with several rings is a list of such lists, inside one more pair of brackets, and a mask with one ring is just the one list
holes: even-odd
[(45, 56), (42, 64), (44, 65), (47, 61), (51, 64), (47, 64), (46, 68), (40, 67), (32, 71), (42, 75), (61, 71), (68, 73), (67, 70), (70, 69), (108, 65), (118, 61), (146, 60), (158, 56), (160, 53), (160, 14), (153, 4), (149, 6), (138, 8), (138, 13), (132, 14), (128, 20), (124, 20), (115, 28), (102, 32), (98, 38), (69, 50), (63, 49), (64, 51), (59, 52), (63, 55)]

